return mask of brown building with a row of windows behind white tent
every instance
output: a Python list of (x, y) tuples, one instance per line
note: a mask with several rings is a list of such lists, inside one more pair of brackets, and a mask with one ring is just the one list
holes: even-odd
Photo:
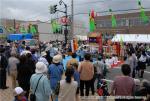
[[(150, 11), (145, 12), (150, 19)], [(111, 15), (95, 18), (95, 32), (107, 34), (150, 34), (150, 21), (145, 24), (140, 18), (140, 12), (116, 14), (117, 27), (112, 28)]]

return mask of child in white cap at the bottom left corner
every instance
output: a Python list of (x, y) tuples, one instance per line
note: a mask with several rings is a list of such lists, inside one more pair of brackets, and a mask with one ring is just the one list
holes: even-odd
[(26, 92), (21, 87), (16, 87), (13, 92), (14, 95), (13, 101), (28, 101), (27, 98), (24, 96), (25, 93)]

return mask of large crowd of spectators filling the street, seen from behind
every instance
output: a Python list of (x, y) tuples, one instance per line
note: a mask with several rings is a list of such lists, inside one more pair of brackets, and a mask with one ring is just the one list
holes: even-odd
[[(34, 97), (36, 101), (79, 101), (79, 95), (83, 97), (101, 92), (99, 87), (102, 86), (97, 84), (103, 83), (110, 64), (116, 63), (118, 57), (97, 54), (93, 60), (91, 53), (83, 47), (76, 53), (69, 53), (72, 58), (64, 66), (63, 59), (68, 56), (70, 47), (60, 42), (42, 43), (40, 49), (32, 49), (24, 43), (1, 45), (0, 89), (8, 88), (8, 72), (14, 101), (34, 101)], [(121, 66), (123, 75), (116, 77), (111, 92), (107, 91), (102, 96), (144, 96), (150, 101), (150, 82), (134, 79), (136, 74), (143, 78), (147, 52), (143, 45), (130, 45), (126, 52), (125, 63)]]

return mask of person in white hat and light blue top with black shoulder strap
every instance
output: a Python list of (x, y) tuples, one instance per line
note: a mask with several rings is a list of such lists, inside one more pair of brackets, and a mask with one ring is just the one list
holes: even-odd
[[(47, 72), (47, 66), (43, 62), (36, 63), (36, 70), (35, 74), (32, 75), (30, 79), (30, 88), (32, 94), (34, 94), (36, 86), (36, 101), (49, 101), (49, 97), (51, 95), (51, 87), (50, 87), (50, 80), (48, 79), (45, 72)], [(39, 83), (38, 83), (39, 81)]]

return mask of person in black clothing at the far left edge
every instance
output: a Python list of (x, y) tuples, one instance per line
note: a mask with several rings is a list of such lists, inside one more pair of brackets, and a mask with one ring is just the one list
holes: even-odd
[(5, 49), (3, 46), (0, 47), (0, 89), (7, 89), (6, 86), (6, 69), (7, 69), (7, 59), (4, 55)]

